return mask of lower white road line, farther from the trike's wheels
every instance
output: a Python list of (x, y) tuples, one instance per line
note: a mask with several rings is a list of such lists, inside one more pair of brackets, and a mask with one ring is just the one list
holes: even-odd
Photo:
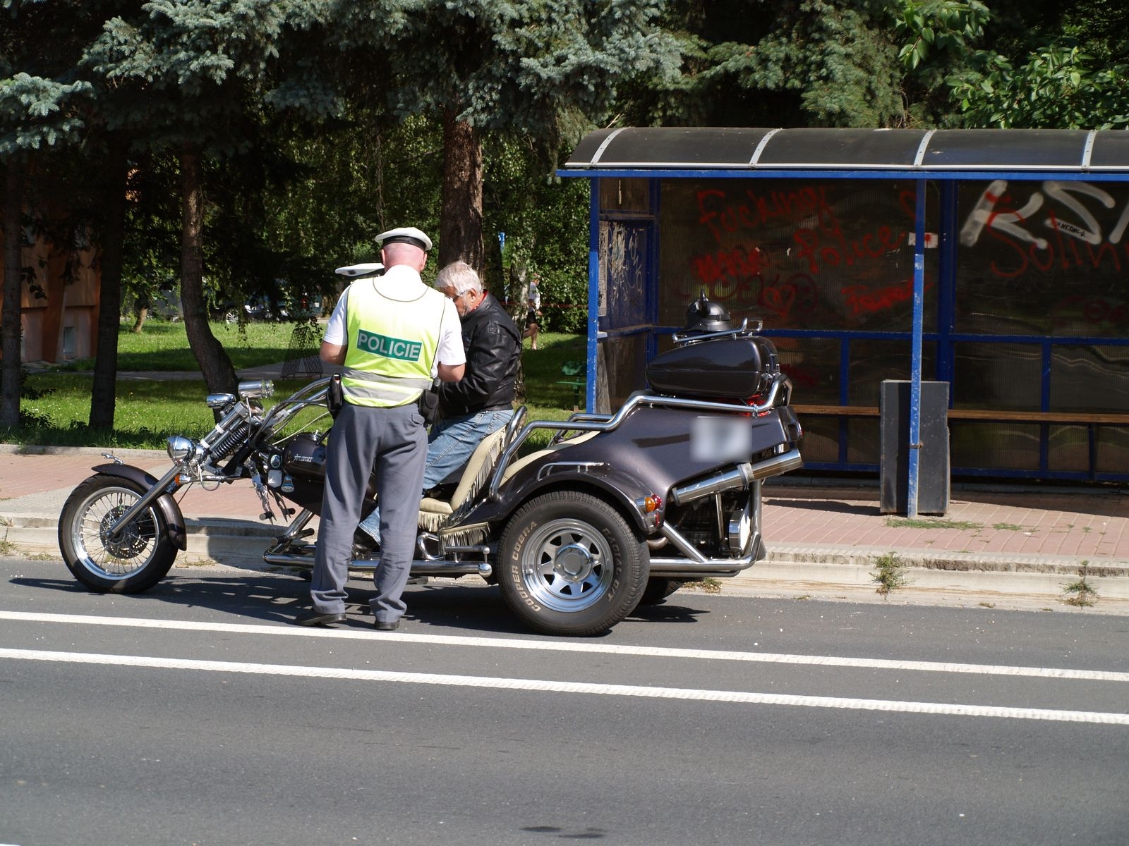
[(540, 679), (490, 678), (481, 676), (449, 676), (428, 672), (397, 672), (390, 670), (352, 670), (335, 667), (291, 667), (286, 664), (260, 664), (236, 661), (198, 661), (180, 658), (100, 655), (86, 652), (46, 652), (42, 650), (0, 649), (0, 659), (5, 658), (24, 661), (60, 661), (65, 663), (145, 667), (167, 670), (210, 670), (212, 672), (297, 676), (308, 679), (347, 679), (356, 681), (386, 681), (412, 685), (445, 685), (448, 687), (479, 687), (497, 690), (533, 690), (542, 693), (594, 694), (602, 696), (634, 696), (658, 699), (694, 699), (699, 702), (727, 702), (753, 705), (798, 705), (813, 708), (851, 708), (857, 711), (886, 711), (904, 714), (996, 716), (1013, 720), (1051, 720), (1065, 723), (1129, 725), (1129, 714), (1111, 714), (1086, 711), (1053, 711), (1049, 708), (1013, 708), (992, 705), (957, 705), (937, 702), (856, 699), (839, 696), (794, 696), (790, 694), (758, 694), (745, 693), (742, 690), (698, 690), (681, 687), (601, 685), (587, 681), (550, 681)]

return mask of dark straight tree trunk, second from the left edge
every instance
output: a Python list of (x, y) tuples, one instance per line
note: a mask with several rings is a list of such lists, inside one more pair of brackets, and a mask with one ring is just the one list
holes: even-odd
[(90, 429), (114, 428), (117, 400), (117, 333), (122, 310), (122, 244), (125, 238), (125, 151), (119, 147), (106, 162), (105, 228), (98, 289), (98, 350), (90, 390)]

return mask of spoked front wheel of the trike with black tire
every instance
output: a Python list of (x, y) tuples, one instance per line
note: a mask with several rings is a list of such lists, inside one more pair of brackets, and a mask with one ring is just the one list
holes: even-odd
[(59, 515), (59, 549), (76, 579), (98, 593), (141, 593), (168, 574), (176, 546), (160, 509), (150, 506), (116, 539), (106, 528), (146, 488), (117, 476), (90, 476), (71, 492)]

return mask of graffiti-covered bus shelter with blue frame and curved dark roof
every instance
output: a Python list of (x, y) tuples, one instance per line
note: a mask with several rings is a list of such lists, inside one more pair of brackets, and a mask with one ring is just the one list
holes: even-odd
[(886, 380), (918, 443), (928, 380), (953, 476), (1129, 481), (1129, 132), (623, 127), (559, 174), (592, 184), (589, 411), (704, 292), (777, 344), (807, 468), (878, 472)]

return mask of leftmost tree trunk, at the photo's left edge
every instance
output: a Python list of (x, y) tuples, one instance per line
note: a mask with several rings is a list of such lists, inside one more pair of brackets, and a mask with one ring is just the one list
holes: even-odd
[(8, 160), (3, 202), (3, 362), (0, 365), (0, 429), (19, 425), (20, 355), (19, 317), (24, 288), (24, 263), (20, 243), (24, 238), (24, 157)]

